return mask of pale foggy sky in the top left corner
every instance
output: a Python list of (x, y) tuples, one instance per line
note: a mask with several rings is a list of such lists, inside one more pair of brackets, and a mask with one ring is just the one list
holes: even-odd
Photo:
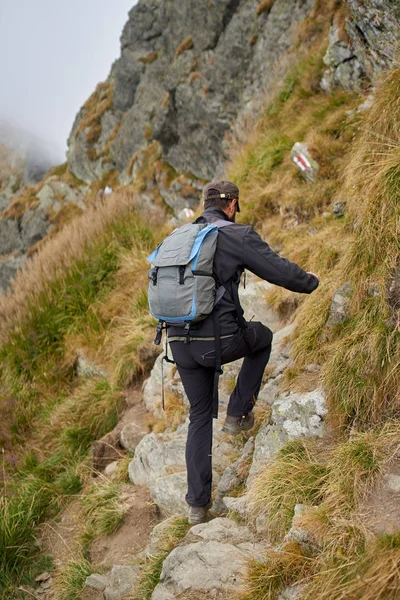
[(118, 58), (134, 4), (0, 0), (0, 119), (55, 143), (64, 160), (75, 115)]

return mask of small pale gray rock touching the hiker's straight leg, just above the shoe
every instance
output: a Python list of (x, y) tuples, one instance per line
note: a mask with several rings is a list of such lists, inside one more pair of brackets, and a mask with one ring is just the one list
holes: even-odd
[(185, 500), (186, 489), (186, 471), (181, 471), (156, 479), (150, 487), (150, 495), (162, 514), (186, 516), (188, 511)]

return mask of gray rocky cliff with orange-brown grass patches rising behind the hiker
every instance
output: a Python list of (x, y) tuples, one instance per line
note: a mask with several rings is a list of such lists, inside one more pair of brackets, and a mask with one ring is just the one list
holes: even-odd
[[(328, 92), (368, 89), (393, 64), (397, 3), (349, 0), (331, 2), (325, 11), (335, 16), (319, 85)], [(175, 215), (197, 207), (204, 183), (222, 172), (238, 123), (255, 118), (266, 94), (307, 53), (323, 13), (314, 0), (190, 0), (183, 6), (140, 0), (107, 81), (76, 116), (68, 165), (36, 187), (24, 184), (37, 183), (43, 170), (35, 181), (25, 168), (23, 176), (2, 182), (0, 291), (26, 251), (107, 184), (131, 185), (144, 205), (161, 202)]]

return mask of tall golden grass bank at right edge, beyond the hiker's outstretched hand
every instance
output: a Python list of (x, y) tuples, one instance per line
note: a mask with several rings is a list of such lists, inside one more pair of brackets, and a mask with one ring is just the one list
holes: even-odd
[[(399, 410), (399, 338), (387, 296), (400, 248), (399, 79), (395, 70), (382, 83), (352, 146), (341, 190), (355, 224), (351, 244), (298, 320), (295, 355), (303, 363), (316, 353), (326, 358), (323, 375), (339, 423), (363, 426)], [(348, 320), (328, 335), (323, 313), (344, 281), (354, 288)]]

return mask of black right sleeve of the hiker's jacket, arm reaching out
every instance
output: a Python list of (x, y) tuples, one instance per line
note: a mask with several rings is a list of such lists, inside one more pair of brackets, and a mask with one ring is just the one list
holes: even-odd
[(291, 292), (310, 294), (319, 284), (315, 275), (271, 250), (251, 227), (247, 228), (244, 238), (243, 265), (258, 277)]

